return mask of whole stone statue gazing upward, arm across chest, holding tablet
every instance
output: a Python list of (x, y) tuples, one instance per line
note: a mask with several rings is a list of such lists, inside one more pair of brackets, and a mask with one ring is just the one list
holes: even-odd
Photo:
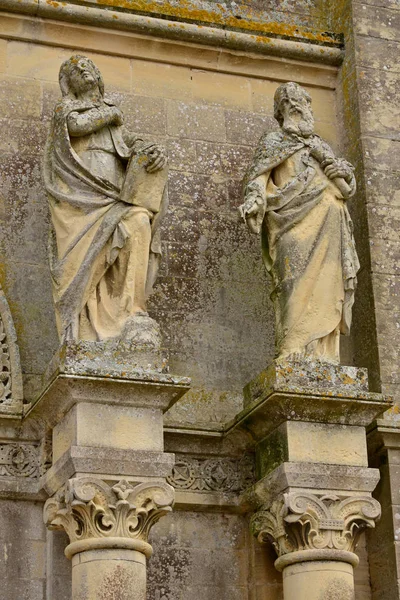
[(59, 335), (132, 340), (150, 320), (146, 298), (161, 258), (166, 158), (160, 146), (123, 127), (91, 60), (72, 56), (59, 82), (62, 100), (44, 159)]

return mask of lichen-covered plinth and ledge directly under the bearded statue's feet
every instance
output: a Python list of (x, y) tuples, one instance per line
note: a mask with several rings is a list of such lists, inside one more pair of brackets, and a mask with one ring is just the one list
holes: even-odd
[(367, 391), (365, 369), (315, 361), (274, 361), (244, 394), (245, 408), (225, 431), (244, 428), (256, 441), (286, 421), (367, 427), (392, 406)]

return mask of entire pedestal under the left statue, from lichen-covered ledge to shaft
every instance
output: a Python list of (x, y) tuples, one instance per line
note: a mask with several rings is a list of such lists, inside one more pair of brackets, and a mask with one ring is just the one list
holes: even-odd
[(174, 502), (163, 413), (190, 380), (161, 351), (115, 342), (63, 346), (46, 378), (27, 416), (52, 432), (44, 517), (69, 536), (73, 600), (145, 600), (148, 534)]

